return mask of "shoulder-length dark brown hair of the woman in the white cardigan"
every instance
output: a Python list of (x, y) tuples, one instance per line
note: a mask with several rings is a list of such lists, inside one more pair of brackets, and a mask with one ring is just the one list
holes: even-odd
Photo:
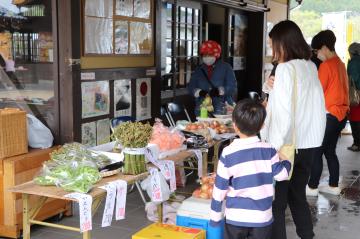
[(272, 40), (273, 60), (280, 60), (283, 51), (283, 61), (293, 59), (309, 60), (311, 50), (296, 23), (286, 20), (276, 24), (269, 33)]

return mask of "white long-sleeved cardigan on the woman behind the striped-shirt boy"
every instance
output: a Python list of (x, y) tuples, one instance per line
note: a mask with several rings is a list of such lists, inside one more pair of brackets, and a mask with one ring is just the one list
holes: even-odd
[(260, 132), (261, 138), (276, 149), (292, 141), (294, 67), (297, 74), (296, 148), (319, 147), (324, 138), (325, 99), (316, 66), (311, 61), (291, 60), (276, 68), (274, 88), (269, 92), (266, 107), (267, 117)]

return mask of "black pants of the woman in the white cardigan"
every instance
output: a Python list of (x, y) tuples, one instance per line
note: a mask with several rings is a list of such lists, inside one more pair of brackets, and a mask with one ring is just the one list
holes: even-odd
[(294, 171), (290, 181), (276, 182), (272, 239), (286, 239), (285, 210), (287, 205), (290, 207), (298, 236), (302, 239), (314, 237), (305, 187), (309, 179), (311, 164), (319, 150), (320, 147), (299, 149), (298, 153), (295, 154)]

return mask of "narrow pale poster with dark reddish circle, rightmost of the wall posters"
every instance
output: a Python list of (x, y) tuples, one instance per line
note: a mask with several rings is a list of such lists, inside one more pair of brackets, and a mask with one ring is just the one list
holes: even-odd
[(151, 79), (136, 80), (136, 120), (151, 118)]

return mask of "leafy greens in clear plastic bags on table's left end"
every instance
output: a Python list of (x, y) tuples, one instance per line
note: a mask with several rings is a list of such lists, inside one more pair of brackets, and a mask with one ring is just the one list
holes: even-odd
[(106, 156), (95, 154), (78, 143), (64, 145), (51, 153), (50, 158), (43, 163), (34, 182), (80, 193), (87, 193), (101, 179), (98, 168), (110, 163)]

